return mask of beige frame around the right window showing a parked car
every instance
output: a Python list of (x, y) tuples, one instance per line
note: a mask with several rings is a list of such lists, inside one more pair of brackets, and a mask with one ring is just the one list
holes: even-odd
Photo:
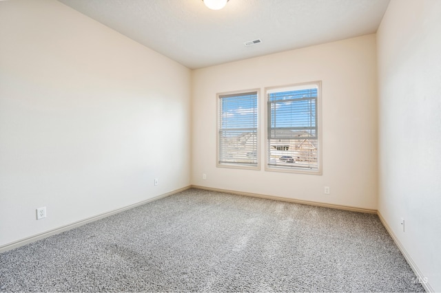
[[(307, 89), (308, 86), (317, 88), (317, 102), (316, 102), (316, 124), (317, 124), (317, 169), (307, 169), (296, 166), (271, 166), (269, 165), (269, 149), (270, 138), (269, 129), (271, 129), (271, 122), (269, 121), (269, 93), (276, 91), (289, 91)], [(280, 85), (276, 87), (265, 87), (265, 171), (284, 172), (284, 173), (300, 173), (311, 175), (322, 175), (322, 81), (315, 80), (306, 83), (296, 83), (291, 85)]]

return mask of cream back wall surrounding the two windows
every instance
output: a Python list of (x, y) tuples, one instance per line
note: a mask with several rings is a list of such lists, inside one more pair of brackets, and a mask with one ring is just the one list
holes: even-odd
[[(374, 34), (195, 70), (192, 184), (376, 209), (376, 70)], [(263, 129), (264, 87), (314, 80), (322, 80), (322, 175), (263, 171), (263, 164), (260, 171), (216, 168), (216, 93), (260, 88)]]

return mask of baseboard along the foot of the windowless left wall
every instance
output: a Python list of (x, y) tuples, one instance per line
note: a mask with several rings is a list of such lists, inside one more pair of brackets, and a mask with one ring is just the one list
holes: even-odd
[(111, 210), (110, 212), (107, 212), (107, 213), (103, 213), (103, 214), (100, 214), (100, 215), (89, 217), (87, 219), (82, 219), (82, 220), (76, 221), (76, 222), (74, 222), (72, 224), (61, 226), (59, 228), (48, 230), (46, 232), (39, 233), (37, 235), (32, 235), (30, 237), (26, 237), (26, 238), (23, 238), (23, 239), (20, 239), (20, 240), (8, 243), (6, 245), (0, 246), (0, 253), (1, 252), (6, 252), (8, 250), (12, 250), (14, 248), (19, 248), (20, 246), (25, 246), (28, 243), (32, 243), (34, 241), (37, 241), (37, 240), (40, 240), (40, 239), (44, 239), (44, 238), (50, 237), (52, 235), (57, 235), (57, 234), (59, 234), (61, 232), (65, 232), (67, 230), (71, 230), (71, 229), (77, 228), (79, 226), (83, 226), (83, 225), (88, 224), (88, 223), (90, 223), (92, 221), (97, 221), (99, 219), (103, 219), (105, 217), (109, 217), (111, 215), (115, 215), (117, 213), (121, 213), (124, 210), (130, 210), (130, 208), (135, 208), (136, 206), (141, 206), (143, 204), (147, 204), (147, 202), (153, 202), (154, 200), (161, 199), (161, 198), (167, 197), (169, 195), (174, 195), (175, 193), (180, 193), (181, 191), (185, 191), (185, 190), (187, 190), (189, 188), (191, 188), (191, 186), (186, 186), (186, 187), (177, 189), (176, 191), (171, 191), (170, 193), (165, 193), (163, 195), (158, 195), (158, 196), (153, 197), (151, 199), (143, 200), (142, 202), (138, 202), (136, 204), (131, 204), (130, 206), (125, 206), (123, 208), (117, 208), (116, 210)]

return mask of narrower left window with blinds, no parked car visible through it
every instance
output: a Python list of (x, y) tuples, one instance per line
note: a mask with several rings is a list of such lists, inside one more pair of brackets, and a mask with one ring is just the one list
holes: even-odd
[(258, 91), (218, 95), (218, 166), (258, 169)]

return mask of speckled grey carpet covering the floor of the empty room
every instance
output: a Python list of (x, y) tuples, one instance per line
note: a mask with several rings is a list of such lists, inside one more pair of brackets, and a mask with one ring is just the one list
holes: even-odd
[(0, 254), (2, 292), (424, 292), (376, 215), (190, 189)]

